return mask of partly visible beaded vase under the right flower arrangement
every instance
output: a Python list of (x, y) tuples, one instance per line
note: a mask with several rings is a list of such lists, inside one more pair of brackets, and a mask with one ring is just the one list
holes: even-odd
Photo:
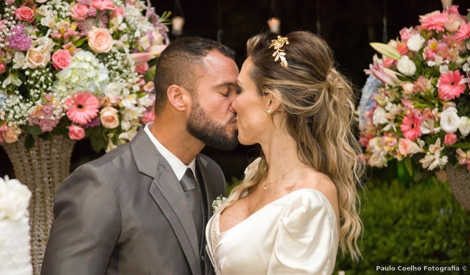
[(446, 165), (445, 172), (453, 195), (465, 209), (470, 211), (470, 171), (464, 165), (457, 168)]

